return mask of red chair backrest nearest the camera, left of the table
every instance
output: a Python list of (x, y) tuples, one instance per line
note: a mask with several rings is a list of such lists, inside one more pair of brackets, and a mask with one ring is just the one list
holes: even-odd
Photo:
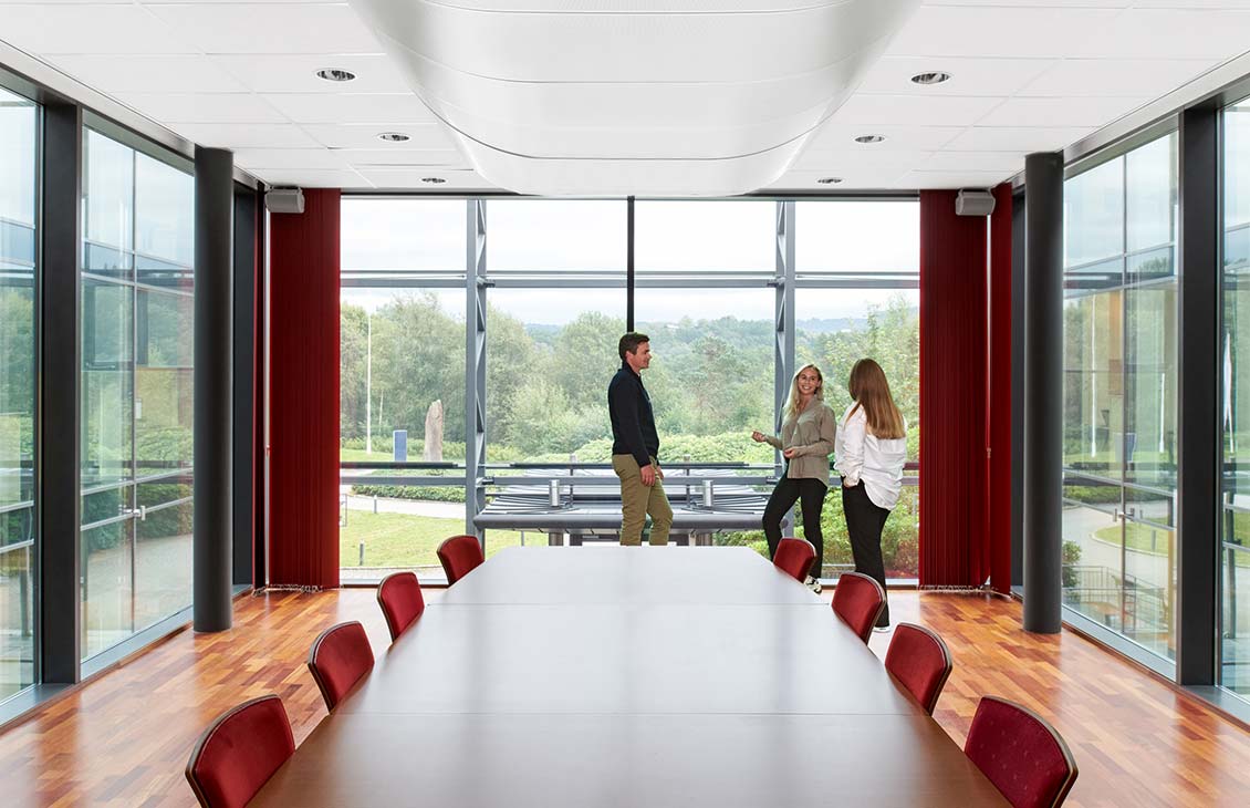
[(282, 699), (262, 695), (209, 724), (191, 750), (186, 780), (204, 808), (242, 808), (294, 753)]

